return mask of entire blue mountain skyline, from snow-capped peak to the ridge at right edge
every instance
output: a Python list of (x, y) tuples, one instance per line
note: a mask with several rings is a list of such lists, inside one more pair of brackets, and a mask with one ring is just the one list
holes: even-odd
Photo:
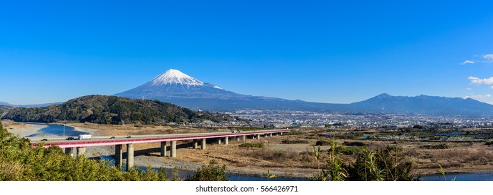
[(146, 84), (117, 93), (126, 98), (171, 102), (189, 109), (235, 111), (240, 109), (345, 111), (377, 114), (423, 114), (429, 116), (493, 116), (493, 105), (471, 98), (377, 95), (352, 104), (328, 104), (242, 95), (204, 83), (179, 70), (168, 70)]

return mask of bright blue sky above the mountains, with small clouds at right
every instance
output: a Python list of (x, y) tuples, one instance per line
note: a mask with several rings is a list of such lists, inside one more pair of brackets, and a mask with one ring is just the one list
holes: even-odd
[(492, 1), (1, 1), (0, 101), (111, 95), (177, 69), (228, 91), (493, 104)]

